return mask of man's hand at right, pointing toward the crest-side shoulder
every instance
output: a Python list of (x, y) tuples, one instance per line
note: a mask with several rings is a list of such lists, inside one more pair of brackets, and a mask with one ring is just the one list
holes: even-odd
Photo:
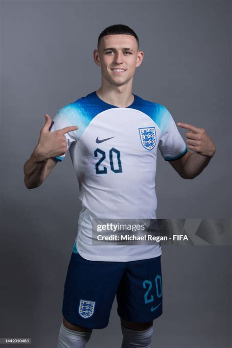
[(216, 151), (215, 144), (205, 129), (180, 122), (177, 125), (190, 130), (190, 132), (186, 133), (186, 143), (189, 150), (199, 153), (202, 156), (212, 157), (214, 155)]

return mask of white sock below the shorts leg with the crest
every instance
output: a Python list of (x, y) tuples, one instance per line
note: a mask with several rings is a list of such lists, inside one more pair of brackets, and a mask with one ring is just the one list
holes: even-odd
[(65, 325), (62, 322), (58, 336), (57, 348), (84, 348), (86, 343), (90, 339), (92, 331), (81, 332), (70, 330), (67, 327), (65, 327)]

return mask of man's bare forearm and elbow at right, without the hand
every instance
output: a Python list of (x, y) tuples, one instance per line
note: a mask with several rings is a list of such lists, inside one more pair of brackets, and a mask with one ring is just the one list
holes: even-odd
[(185, 179), (193, 179), (197, 175), (201, 174), (201, 172), (208, 166), (209, 161), (212, 157), (203, 156), (196, 152), (192, 152), (186, 158), (184, 163), (184, 178)]

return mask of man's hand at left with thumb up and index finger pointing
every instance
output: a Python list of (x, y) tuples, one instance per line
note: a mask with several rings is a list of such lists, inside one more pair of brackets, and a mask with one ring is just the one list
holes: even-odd
[(64, 155), (67, 152), (67, 140), (64, 134), (78, 129), (78, 126), (72, 125), (49, 132), (51, 118), (46, 114), (45, 119), (46, 122), (40, 131), (38, 144), (33, 151), (33, 157), (35, 156), (40, 161)]

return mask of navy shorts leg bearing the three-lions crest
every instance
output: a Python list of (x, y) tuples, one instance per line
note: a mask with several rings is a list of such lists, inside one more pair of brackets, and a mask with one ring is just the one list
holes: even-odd
[(106, 327), (123, 267), (121, 262), (90, 261), (72, 252), (62, 306), (66, 321), (91, 329)]

